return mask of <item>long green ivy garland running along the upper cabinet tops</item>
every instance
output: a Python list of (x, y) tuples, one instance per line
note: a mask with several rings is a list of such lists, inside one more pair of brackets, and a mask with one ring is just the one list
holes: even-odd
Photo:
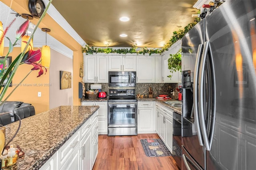
[(191, 28), (193, 28), (198, 22), (200, 21), (200, 18), (195, 18), (194, 22), (189, 23), (184, 30), (178, 30), (173, 32), (173, 36), (172, 38), (169, 40), (168, 43), (166, 43), (164, 45), (164, 47), (162, 47), (162, 49), (148, 49), (147, 47), (144, 47), (142, 49), (140, 49), (139, 51), (136, 51), (137, 47), (136, 45), (133, 45), (130, 49), (127, 48), (122, 48), (122, 49), (113, 49), (110, 47), (106, 47), (106, 48), (97, 48), (97, 47), (90, 47), (89, 45), (85, 45), (84, 47), (82, 47), (82, 53), (86, 53), (86, 55), (88, 54), (93, 54), (93, 53), (118, 53), (118, 54), (127, 54), (127, 53), (136, 53), (138, 54), (143, 54), (145, 55), (145, 53), (148, 53), (149, 55), (151, 54), (161, 54), (164, 51), (168, 51), (168, 49), (172, 46), (172, 44), (174, 44), (175, 42), (177, 42), (178, 40), (180, 40)]

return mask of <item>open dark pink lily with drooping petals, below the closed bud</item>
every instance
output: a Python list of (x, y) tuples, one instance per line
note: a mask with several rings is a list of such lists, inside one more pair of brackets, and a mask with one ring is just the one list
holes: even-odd
[[(44, 67), (44, 66), (42, 66), (42, 64), (40, 64), (40, 63), (36, 63), (36, 61), (40, 60), (41, 56), (42, 56), (42, 53), (41, 53), (40, 49), (38, 49), (36, 51), (30, 50), (25, 53), (25, 55), (22, 59), (22, 63), (31, 64), (34, 66), (31, 70), (40, 69), (37, 77), (40, 77), (44, 73), (44, 70), (42, 69), (42, 67)], [(45, 74), (46, 74), (47, 69), (45, 67), (44, 67), (44, 69), (45, 69)]]

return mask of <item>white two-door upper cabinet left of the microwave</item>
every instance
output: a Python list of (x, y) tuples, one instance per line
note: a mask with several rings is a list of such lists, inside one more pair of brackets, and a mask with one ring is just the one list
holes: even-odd
[(107, 55), (84, 55), (84, 82), (108, 83)]

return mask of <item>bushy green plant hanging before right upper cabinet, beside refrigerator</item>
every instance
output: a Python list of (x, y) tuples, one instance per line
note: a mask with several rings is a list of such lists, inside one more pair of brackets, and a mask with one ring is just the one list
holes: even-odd
[[(181, 71), (181, 50), (176, 54), (170, 54), (170, 58), (168, 58), (168, 69), (170, 72)], [(172, 75), (168, 75), (172, 79)]]

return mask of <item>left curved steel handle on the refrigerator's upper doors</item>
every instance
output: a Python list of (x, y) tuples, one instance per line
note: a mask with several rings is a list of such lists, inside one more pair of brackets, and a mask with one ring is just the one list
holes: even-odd
[(196, 130), (197, 130), (197, 136), (198, 136), (198, 141), (201, 146), (204, 145), (203, 139), (202, 139), (202, 133), (200, 129), (200, 124), (199, 124), (199, 116), (198, 116), (198, 74), (199, 74), (199, 66), (200, 66), (200, 60), (202, 57), (202, 51), (203, 51), (203, 44), (198, 45), (198, 51), (196, 54), (196, 65), (195, 65), (195, 70), (194, 70), (194, 95), (193, 95), (193, 101), (194, 101), (194, 119), (195, 119), (195, 124), (196, 124)]

